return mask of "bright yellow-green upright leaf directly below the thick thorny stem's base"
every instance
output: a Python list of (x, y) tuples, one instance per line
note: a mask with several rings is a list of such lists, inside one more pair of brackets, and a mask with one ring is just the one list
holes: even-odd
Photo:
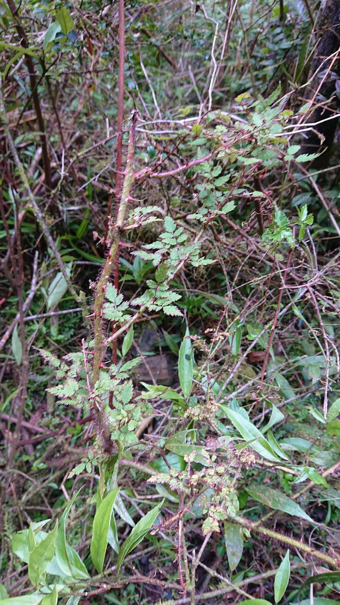
[(97, 508), (93, 520), (92, 539), (90, 552), (94, 567), (102, 574), (103, 564), (108, 546), (108, 534), (110, 531), (111, 518), (113, 517), (113, 505), (119, 489), (114, 489), (106, 495)]

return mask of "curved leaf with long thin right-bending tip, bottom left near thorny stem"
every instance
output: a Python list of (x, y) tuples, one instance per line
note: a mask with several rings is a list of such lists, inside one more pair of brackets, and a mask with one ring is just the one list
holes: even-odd
[(66, 542), (66, 522), (68, 513), (70, 512), (70, 508), (73, 505), (74, 500), (76, 500), (80, 489), (74, 494), (70, 502), (68, 502), (60, 519), (60, 527), (56, 540), (56, 561), (63, 574), (79, 580), (85, 580), (89, 578), (87, 568), (80, 559), (79, 554)]

